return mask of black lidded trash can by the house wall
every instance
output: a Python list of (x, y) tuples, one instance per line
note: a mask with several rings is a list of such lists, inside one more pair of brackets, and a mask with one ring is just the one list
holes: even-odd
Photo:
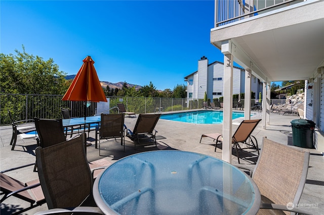
[(293, 145), (303, 148), (314, 148), (315, 123), (310, 120), (291, 121), (293, 130)]

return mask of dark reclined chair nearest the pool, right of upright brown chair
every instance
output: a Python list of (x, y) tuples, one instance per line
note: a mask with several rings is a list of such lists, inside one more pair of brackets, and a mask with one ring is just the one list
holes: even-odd
[(156, 146), (154, 129), (161, 114), (140, 114), (136, 121), (134, 130), (131, 131), (126, 126), (126, 136), (128, 136), (136, 145), (151, 145), (152, 143)]

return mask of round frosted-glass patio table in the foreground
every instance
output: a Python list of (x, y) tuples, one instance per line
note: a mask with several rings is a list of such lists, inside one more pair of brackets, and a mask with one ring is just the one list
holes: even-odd
[(95, 180), (93, 195), (105, 214), (255, 214), (261, 198), (236, 167), (179, 150), (118, 160)]

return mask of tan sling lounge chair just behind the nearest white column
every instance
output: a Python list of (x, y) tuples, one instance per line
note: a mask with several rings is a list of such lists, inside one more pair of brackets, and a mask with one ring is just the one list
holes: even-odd
[[(243, 151), (244, 149), (253, 149), (254, 151), (257, 151), (258, 155), (259, 155), (260, 152), (259, 152), (258, 141), (251, 134), (254, 131), (254, 129), (257, 127), (257, 125), (259, 124), (260, 121), (261, 121), (261, 119), (258, 119), (258, 120), (243, 120), (239, 124), (238, 128), (236, 129), (236, 131), (235, 131), (235, 133), (234, 133), (234, 135), (232, 137), (232, 144), (233, 144), (232, 147), (235, 148), (235, 150), (236, 150), (236, 156), (237, 156), (238, 164), (239, 164), (239, 155), (238, 155), (239, 150)], [(203, 134), (203, 135), (201, 135), (199, 143), (201, 143), (201, 139), (203, 139), (203, 137), (212, 138), (214, 141), (216, 140), (215, 151), (216, 151), (216, 148), (217, 148), (217, 143), (218, 142), (223, 142), (223, 135), (219, 134), (219, 133)], [(239, 143), (244, 143), (248, 147), (242, 147), (242, 146), (240, 146)], [(249, 151), (249, 152), (253, 152), (253, 151)]]

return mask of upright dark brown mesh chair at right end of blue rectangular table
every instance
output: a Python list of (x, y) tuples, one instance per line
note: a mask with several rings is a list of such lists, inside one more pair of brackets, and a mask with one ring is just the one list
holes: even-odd
[(123, 145), (125, 151), (125, 132), (124, 132), (124, 114), (101, 114), (100, 126), (96, 127), (96, 148), (99, 134), (99, 155), (100, 155), (100, 140), (109, 138), (121, 138), (120, 144)]

